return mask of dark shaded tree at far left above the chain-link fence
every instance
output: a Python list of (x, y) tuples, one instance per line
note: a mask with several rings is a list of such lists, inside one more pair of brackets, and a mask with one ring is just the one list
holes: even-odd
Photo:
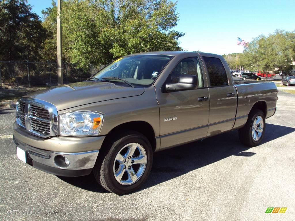
[(26, 0), (0, 3), (0, 59), (38, 60), (46, 31)]

